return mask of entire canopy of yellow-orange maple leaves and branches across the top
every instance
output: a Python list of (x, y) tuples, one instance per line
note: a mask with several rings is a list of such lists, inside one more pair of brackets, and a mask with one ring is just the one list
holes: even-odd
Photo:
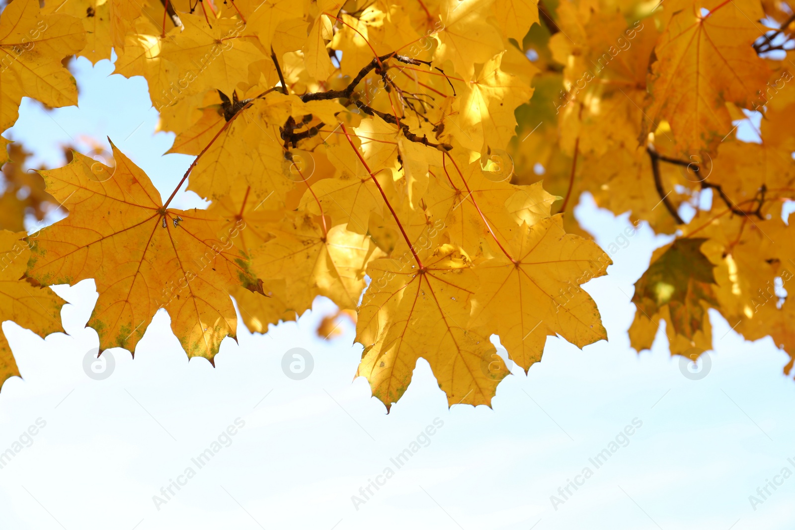
[[(170, 152), (195, 159), (164, 200), (115, 146), (112, 166), (72, 153), (44, 184), (14, 184), (11, 145), (6, 181), (31, 199), (0, 218), (17, 230), (0, 237), (0, 317), (58, 331), (63, 301), (44, 287), (93, 278), (101, 350), (134, 351), (165, 309), (188, 356), (212, 362), (238, 316), (266, 332), (327, 296), (355, 315), (357, 373), (387, 408), (418, 358), (449, 404), (490, 404), (509, 373), (491, 335), (525, 370), (549, 335), (607, 339), (580, 285), (611, 259), (571, 216), (590, 191), (676, 234), (636, 285), (634, 346), (664, 319), (673, 353), (708, 349), (717, 308), (795, 351), (792, 308), (753, 298), (793, 253), (786, 13), (754, 0), (14, 0), (0, 16), (2, 130), (23, 96), (76, 105), (64, 57), (113, 52), (117, 73), (146, 79)], [(752, 111), (762, 143), (731, 134)], [(170, 207), (185, 184), (210, 206)], [(42, 219), (43, 204), (68, 215), (25, 238), (23, 215)], [(18, 375), (2, 340), (0, 381)]]

